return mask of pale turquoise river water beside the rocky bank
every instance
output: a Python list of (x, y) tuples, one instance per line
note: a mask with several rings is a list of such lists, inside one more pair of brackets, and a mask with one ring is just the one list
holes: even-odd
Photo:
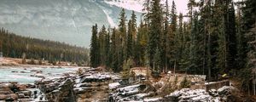
[[(0, 82), (19, 82), (19, 83), (34, 83), (41, 80), (40, 77), (54, 78), (61, 77), (64, 73), (75, 72), (79, 68), (51, 68), (51, 67), (19, 67), (19, 66), (4, 66), (0, 68)], [(36, 71), (43, 71), (37, 73)], [(34, 77), (40, 76), (40, 77)]]

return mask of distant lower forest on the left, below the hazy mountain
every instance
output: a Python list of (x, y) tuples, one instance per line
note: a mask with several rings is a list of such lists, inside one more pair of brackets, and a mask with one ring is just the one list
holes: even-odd
[(89, 62), (89, 50), (37, 38), (20, 37), (5, 29), (0, 30), (0, 52), (4, 57), (22, 59), (45, 59), (49, 63), (69, 61), (77, 64)]

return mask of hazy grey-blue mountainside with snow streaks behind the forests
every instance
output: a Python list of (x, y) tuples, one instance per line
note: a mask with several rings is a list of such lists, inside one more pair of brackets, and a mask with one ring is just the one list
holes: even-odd
[[(103, 0), (1, 0), (0, 27), (88, 48), (91, 26), (116, 26), (120, 10)], [(130, 19), (131, 10), (126, 14)], [(140, 19), (141, 13), (136, 14)]]

